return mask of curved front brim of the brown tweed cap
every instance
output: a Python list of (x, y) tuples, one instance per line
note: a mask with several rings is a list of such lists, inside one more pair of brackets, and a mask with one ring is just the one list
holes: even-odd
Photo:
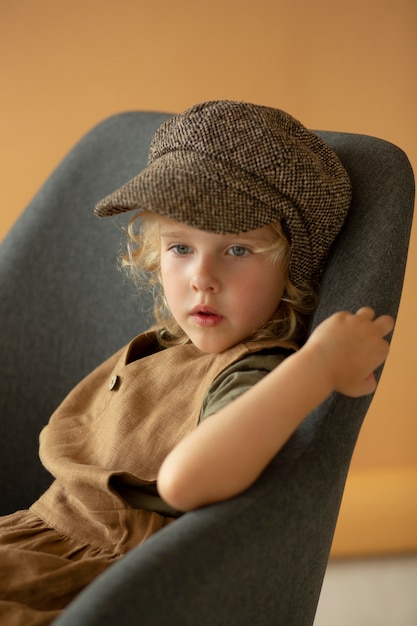
[(219, 166), (218, 157), (167, 153), (103, 198), (95, 214), (145, 210), (219, 234), (256, 230), (281, 219), (291, 236), (292, 254), (311, 262), (310, 239), (297, 207), (262, 178), (226, 162)]

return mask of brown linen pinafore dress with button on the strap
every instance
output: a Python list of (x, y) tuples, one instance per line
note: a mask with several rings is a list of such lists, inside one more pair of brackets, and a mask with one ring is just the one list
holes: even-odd
[(284, 357), (278, 340), (206, 354), (191, 343), (162, 349), (149, 332), (81, 381), (40, 435), (52, 485), (29, 510), (0, 518), (0, 624), (50, 624), (170, 524), (179, 512), (156, 490), (165, 456), (197, 427), (202, 407), (215, 412)]

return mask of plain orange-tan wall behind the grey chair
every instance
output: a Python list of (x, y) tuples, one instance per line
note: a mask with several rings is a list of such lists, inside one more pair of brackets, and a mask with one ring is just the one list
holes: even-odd
[[(0, 27), (0, 237), (83, 133), (122, 110), (244, 99), (383, 137), (417, 163), (415, 0), (1, 0)], [(417, 549), (416, 238), (334, 554)]]

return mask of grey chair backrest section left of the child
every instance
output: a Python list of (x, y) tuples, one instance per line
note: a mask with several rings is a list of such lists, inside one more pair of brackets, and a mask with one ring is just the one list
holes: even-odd
[(29, 506), (49, 484), (38, 437), (59, 402), (149, 325), (149, 298), (117, 268), (121, 228), (93, 208), (146, 165), (151, 137), (168, 117), (135, 112), (99, 124), (1, 245), (0, 475), (9, 477), (1, 513)]

